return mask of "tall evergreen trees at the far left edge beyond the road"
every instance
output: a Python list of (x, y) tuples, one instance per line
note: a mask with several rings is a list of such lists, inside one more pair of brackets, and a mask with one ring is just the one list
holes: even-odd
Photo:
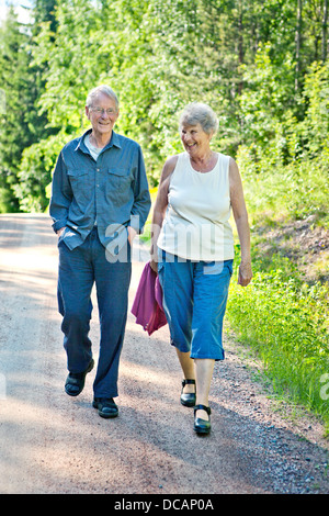
[[(39, 20), (46, 14), (43, 12)], [(20, 175), (23, 153), (49, 133), (45, 130), (47, 114), (39, 113), (36, 105), (44, 79), (42, 68), (33, 64), (31, 44), (31, 34), (18, 22), (11, 8), (0, 30), (0, 85), (4, 101), (0, 112), (0, 213), (24, 207), (22, 201), (24, 204), (25, 200), (21, 194), (24, 187), (20, 189), (25, 180)], [(30, 180), (39, 182), (32, 173), (27, 182)], [(41, 206), (44, 189), (27, 188)]]

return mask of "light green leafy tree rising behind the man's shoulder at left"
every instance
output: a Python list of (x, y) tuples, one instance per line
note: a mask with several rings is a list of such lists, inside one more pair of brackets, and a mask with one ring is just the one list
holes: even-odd
[(42, 131), (24, 149), (19, 167), (15, 192), (24, 211), (47, 207), (46, 189), (57, 155), (86, 124), (84, 100), (99, 69), (98, 59), (89, 51), (100, 23), (91, 2), (68, 0), (57, 5), (37, 1), (35, 9), (39, 22), (33, 31), (31, 65), (38, 71), (42, 88), (34, 114), (44, 123), (35, 124)]

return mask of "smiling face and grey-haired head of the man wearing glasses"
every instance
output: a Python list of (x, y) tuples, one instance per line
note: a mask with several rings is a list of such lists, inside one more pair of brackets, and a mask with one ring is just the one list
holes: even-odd
[[(98, 112), (97, 110), (102, 110)], [(112, 114), (109, 114), (109, 110)], [(114, 99), (105, 93), (99, 92), (93, 99), (91, 106), (86, 106), (86, 114), (92, 125), (92, 132), (95, 137), (110, 138), (112, 130), (118, 117), (118, 109)]]

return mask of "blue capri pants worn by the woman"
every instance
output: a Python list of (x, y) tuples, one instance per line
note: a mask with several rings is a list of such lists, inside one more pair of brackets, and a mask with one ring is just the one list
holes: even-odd
[(232, 260), (183, 260), (160, 249), (158, 273), (171, 344), (193, 359), (224, 360), (223, 319)]

